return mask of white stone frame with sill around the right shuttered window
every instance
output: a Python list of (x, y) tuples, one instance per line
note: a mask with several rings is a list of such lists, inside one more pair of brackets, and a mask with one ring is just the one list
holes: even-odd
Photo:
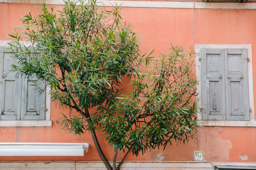
[[(197, 119), (202, 126), (242, 126), (256, 127), (254, 114), (254, 95), (253, 95), (253, 71), (252, 71), (252, 45), (251, 44), (196, 44), (195, 53), (200, 54), (200, 48), (246, 48), (248, 61), (248, 80), (249, 80), (249, 106), (251, 108), (250, 121), (223, 121), (223, 120), (202, 120), (201, 110), (198, 111)], [(201, 81), (200, 73), (200, 55), (195, 57), (196, 77)], [(198, 83), (199, 104), (201, 104), (201, 83)]]

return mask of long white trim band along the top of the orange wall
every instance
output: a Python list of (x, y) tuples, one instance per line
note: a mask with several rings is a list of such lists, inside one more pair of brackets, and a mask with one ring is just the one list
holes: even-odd
[[(100, 6), (121, 5), (122, 7), (142, 7), (142, 8), (194, 8), (194, 2), (159, 2), (159, 1), (119, 1), (119, 0), (98, 0)], [(0, 0), (0, 3), (24, 3), (52, 5), (63, 4), (62, 0)], [(195, 2), (198, 9), (256, 9), (256, 3), (206, 3)]]

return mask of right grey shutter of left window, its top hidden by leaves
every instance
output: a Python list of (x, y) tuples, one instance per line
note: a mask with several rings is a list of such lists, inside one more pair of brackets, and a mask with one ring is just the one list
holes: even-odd
[(38, 80), (37, 77), (23, 77), (24, 86), (22, 91), (24, 104), (22, 105), (22, 120), (45, 120), (45, 91), (40, 94), (33, 84), (40, 88), (45, 88), (45, 84)]

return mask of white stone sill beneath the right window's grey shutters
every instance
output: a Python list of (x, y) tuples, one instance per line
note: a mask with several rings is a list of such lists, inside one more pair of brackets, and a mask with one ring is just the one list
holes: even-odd
[(198, 120), (202, 126), (256, 127), (256, 121)]

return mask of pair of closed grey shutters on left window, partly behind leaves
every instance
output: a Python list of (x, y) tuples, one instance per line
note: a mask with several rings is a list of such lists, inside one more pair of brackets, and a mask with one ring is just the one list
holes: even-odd
[(10, 72), (12, 64), (17, 64), (12, 54), (0, 47), (0, 120), (45, 120), (45, 92), (39, 94), (29, 86), (36, 83), (45, 88), (45, 83)]

